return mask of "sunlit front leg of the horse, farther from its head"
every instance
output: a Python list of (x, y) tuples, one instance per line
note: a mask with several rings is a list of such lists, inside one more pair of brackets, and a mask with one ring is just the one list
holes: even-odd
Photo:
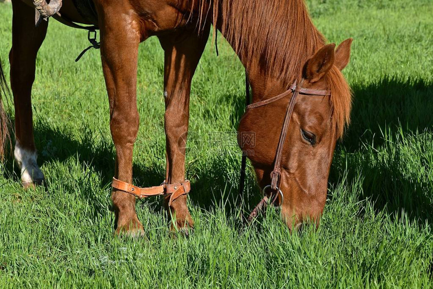
[[(116, 3), (98, 10), (102, 19), (101, 58), (110, 105), (110, 130), (116, 149), (115, 178), (131, 184), (132, 150), (139, 125), (136, 83), (138, 44), (142, 32), (138, 19), (133, 19), (128, 13), (122, 14), (122, 6), (117, 7)], [(143, 226), (135, 212), (135, 197), (113, 189), (111, 199), (116, 233), (143, 236)]]

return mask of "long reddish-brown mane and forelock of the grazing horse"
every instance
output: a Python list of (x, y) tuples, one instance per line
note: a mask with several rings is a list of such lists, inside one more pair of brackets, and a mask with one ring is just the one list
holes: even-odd
[[(304, 0), (178, 0), (190, 5), (198, 27), (211, 19), (247, 65), (259, 65), (290, 86), (326, 39), (314, 26)], [(212, 13), (211, 15), (209, 15)], [(258, 64), (257, 61), (259, 60)], [(334, 66), (326, 75), (331, 90), (331, 120), (341, 137), (350, 122), (352, 95)]]

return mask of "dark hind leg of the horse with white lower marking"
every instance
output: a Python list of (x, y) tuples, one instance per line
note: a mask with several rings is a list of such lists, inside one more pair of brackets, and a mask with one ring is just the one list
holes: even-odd
[(9, 54), (11, 63), (11, 88), (15, 104), (14, 155), (21, 169), (24, 187), (41, 183), (42, 171), (36, 163), (36, 147), (33, 137), (32, 85), (35, 80), (36, 55), (45, 38), (47, 21), (35, 27), (35, 11), (21, 0), (13, 0), (12, 49)]

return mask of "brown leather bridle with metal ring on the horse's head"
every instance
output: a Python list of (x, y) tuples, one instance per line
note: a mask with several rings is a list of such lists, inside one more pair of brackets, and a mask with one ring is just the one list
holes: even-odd
[[(279, 196), (281, 196), (281, 201), (279, 202), (279, 204), (282, 204), (284, 196), (283, 196), (281, 190), (279, 189), (279, 186), (281, 183), (282, 149), (284, 147), (284, 142), (285, 142), (287, 132), (288, 132), (288, 126), (290, 125), (290, 120), (292, 119), (292, 113), (293, 113), (293, 109), (295, 107), (295, 103), (296, 103), (296, 99), (297, 99), (298, 95), (299, 94), (312, 95), (312, 96), (331, 95), (330, 90), (303, 88), (302, 87), (303, 83), (304, 83), (304, 78), (301, 79), (301, 82), (299, 83), (299, 85), (297, 84), (297, 81), (295, 80), (295, 82), (292, 84), (292, 86), (287, 91), (285, 91), (285, 92), (283, 92), (277, 96), (271, 97), (269, 99), (262, 100), (262, 101), (247, 105), (247, 108), (246, 108), (247, 110), (253, 109), (253, 108), (260, 107), (260, 106), (272, 103), (274, 101), (277, 101), (277, 100), (279, 100), (279, 99), (292, 93), (292, 98), (290, 99), (290, 102), (288, 102), (288, 105), (286, 108), (284, 122), (283, 122), (283, 125), (281, 128), (281, 134), (279, 137), (278, 146), (277, 146), (276, 153), (275, 153), (274, 166), (273, 166), (273, 170), (272, 170), (271, 175), (270, 175), (271, 184), (266, 186), (263, 189), (264, 197), (259, 202), (259, 204), (254, 208), (254, 210), (251, 212), (251, 214), (249, 215), (249, 217), (247, 219), (248, 222), (250, 222), (251, 220), (256, 218), (258, 216), (258, 214), (261, 211), (263, 211), (263, 209), (269, 203), (274, 205)], [(247, 86), (249, 86), (248, 80), (246, 81), (246, 84), (247, 84)], [(249, 91), (248, 90), (249, 90), (249, 88), (247, 89), (247, 99), (249, 99)], [(243, 195), (243, 187), (244, 187), (244, 181), (245, 181), (245, 167), (246, 167), (246, 154), (244, 153), (242, 155), (242, 166), (241, 166), (241, 184), (240, 184), (241, 195)], [(269, 196), (267, 196), (267, 193), (266, 193), (266, 190), (268, 190), (268, 189), (270, 189), (270, 192), (271, 192)]]

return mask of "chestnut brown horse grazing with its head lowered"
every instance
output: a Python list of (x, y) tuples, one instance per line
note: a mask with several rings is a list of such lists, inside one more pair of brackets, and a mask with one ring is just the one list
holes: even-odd
[[(21, 168), (23, 185), (32, 186), (44, 178), (36, 162), (31, 90), (36, 54), (45, 38), (48, 21), (40, 21), (35, 27), (32, 0), (12, 2), (14, 155)], [(96, 13), (92, 14), (92, 10), (86, 13), (84, 4), (94, 5)], [(253, 103), (287, 92), (286, 97), (247, 110), (239, 132), (255, 133), (255, 147), (242, 143), (241, 147), (254, 151), (249, 158), (262, 188), (271, 183), (270, 174), (276, 171), (277, 182), (272, 189), (282, 192), (283, 198), (280, 196), (278, 202), (288, 227), (292, 229), (307, 220), (318, 223), (325, 205), (335, 144), (349, 122), (351, 93), (340, 71), (349, 62), (351, 39), (337, 49), (335, 44), (325, 45), (302, 0), (93, 0), (93, 3), (63, 0), (60, 14), (71, 21), (100, 27), (102, 68), (116, 149), (115, 178), (120, 181), (113, 185), (112, 192), (117, 233), (141, 235), (144, 232), (135, 212), (135, 196), (131, 194), (136, 187), (129, 184), (139, 125), (138, 44), (153, 35), (160, 39), (165, 51), (166, 183), (170, 185), (163, 186), (166, 192), (168, 188), (173, 192), (178, 186), (184, 188), (175, 198), (173, 194), (167, 195), (166, 201), (176, 216), (178, 228), (193, 225), (186, 205), (188, 189), (183, 183), (189, 94), (211, 24), (221, 31), (245, 66)], [(293, 97), (298, 93), (295, 90), (299, 90), (288, 91), (294, 81), (302, 82), (299, 89), (304, 91), (330, 91), (330, 95), (301, 93), (288, 114), (290, 95)], [(278, 146), (287, 115), (291, 125), (284, 126), (286, 141)], [(274, 169), (277, 146), (280, 156)]]

